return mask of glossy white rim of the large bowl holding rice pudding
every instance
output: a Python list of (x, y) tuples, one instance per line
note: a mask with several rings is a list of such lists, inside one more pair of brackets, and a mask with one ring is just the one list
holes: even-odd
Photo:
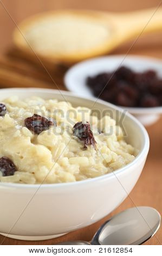
[[(21, 92), (23, 91), (26, 91), (26, 90), (30, 90), (30, 92), (50, 92), (50, 93), (53, 93), (53, 94), (63, 94), (65, 96), (72, 96), (72, 97), (79, 97), (80, 99), (86, 99), (86, 100), (92, 100), (92, 101), (96, 101), (96, 98), (95, 97), (91, 97), (91, 98), (86, 98), (86, 97), (82, 97), (82, 96), (79, 96), (75, 93), (72, 93), (72, 92), (67, 92), (67, 91), (64, 91), (64, 90), (57, 90), (57, 89), (46, 89), (46, 88), (5, 88), (5, 89), (1, 89), (1, 92), (3, 91), (9, 91), (9, 90), (21, 90)], [(61, 91), (61, 94), (60, 94), (60, 91)], [(98, 102), (101, 103), (101, 104), (104, 104), (104, 105), (107, 105), (107, 107), (111, 107), (111, 108), (114, 108), (116, 109), (117, 111), (121, 112), (123, 111), (122, 108), (118, 107), (118, 106), (115, 106), (113, 105), (112, 103), (109, 103), (109, 102), (106, 102), (106, 101), (103, 101), (103, 100), (100, 100), (98, 99)], [(114, 170), (113, 172), (111, 173), (107, 173), (107, 174), (104, 174), (104, 175), (101, 175), (101, 176), (98, 176), (98, 177), (95, 177), (95, 178), (92, 178), (92, 179), (86, 179), (86, 180), (81, 180), (81, 181), (75, 181), (75, 182), (62, 182), (62, 183), (53, 183), (53, 184), (18, 184), (18, 183), (12, 183), (12, 182), (0, 182), (0, 188), (2, 187), (14, 187), (14, 188), (37, 188), (37, 190), (39, 188), (51, 188), (51, 187), (55, 187), (55, 188), (58, 188), (58, 187), (75, 187), (75, 186), (82, 186), (82, 185), (88, 185), (88, 184), (92, 184), (96, 181), (101, 181), (101, 180), (105, 180), (105, 179), (112, 179), (112, 178), (116, 178), (116, 176), (122, 174), (122, 173), (126, 173), (130, 170), (129, 167), (133, 167), (135, 166), (138, 162), (142, 162), (142, 160), (145, 159), (145, 157), (147, 157), (147, 154), (148, 154), (148, 150), (150, 148), (150, 138), (148, 136), (148, 133), (145, 129), (145, 127), (140, 123), (140, 121), (137, 120), (137, 118), (133, 117), (132, 114), (126, 112), (125, 113), (129, 119), (133, 120), (133, 122), (135, 124), (137, 124), (140, 128), (140, 132), (142, 134), (142, 137), (144, 138), (144, 145), (142, 147), (142, 149), (140, 150), (139, 154), (135, 157), (135, 159), (131, 162), (131, 163), (128, 163), (126, 164), (126, 166), (124, 167), (121, 167), (117, 170)], [(37, 192), (36, 190), (36, 192)]]

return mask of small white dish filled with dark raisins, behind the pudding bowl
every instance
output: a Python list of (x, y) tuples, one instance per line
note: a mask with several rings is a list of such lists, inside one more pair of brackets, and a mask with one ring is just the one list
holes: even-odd
[(95, 95), (126, 109), (147, 126), (162, 113), (161, 67), (160, 59), (150, 57), (104, 56), (72, 66), (64, 83), (70, 92)]

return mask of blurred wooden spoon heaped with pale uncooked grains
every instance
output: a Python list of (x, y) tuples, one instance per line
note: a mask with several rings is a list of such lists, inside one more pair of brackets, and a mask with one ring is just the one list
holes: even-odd
[(37, 14), (20, 23), (14, 42), (28, 58), (72, 64), (160, 30), (162, 8), (129, 13), (61, 10)]

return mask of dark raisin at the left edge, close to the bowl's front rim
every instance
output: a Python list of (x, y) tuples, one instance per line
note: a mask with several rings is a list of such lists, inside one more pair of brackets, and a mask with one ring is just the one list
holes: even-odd
[(0, 172), (3, 176), (11, 176), (16, 172), (15, 164), (8, 157), (1, 157), (0, 159)]

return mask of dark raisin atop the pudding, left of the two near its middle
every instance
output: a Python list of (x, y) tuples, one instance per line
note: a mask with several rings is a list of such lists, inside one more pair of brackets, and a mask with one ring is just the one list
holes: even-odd
[(49, 121), (47, 118), (37, 114), (34, 114), (33, 117), (26, 118), (24, 123), (30, 131), (33, 131), (36, 134), (48, 130), (52, 125), (56, 126), (55, 122)]

